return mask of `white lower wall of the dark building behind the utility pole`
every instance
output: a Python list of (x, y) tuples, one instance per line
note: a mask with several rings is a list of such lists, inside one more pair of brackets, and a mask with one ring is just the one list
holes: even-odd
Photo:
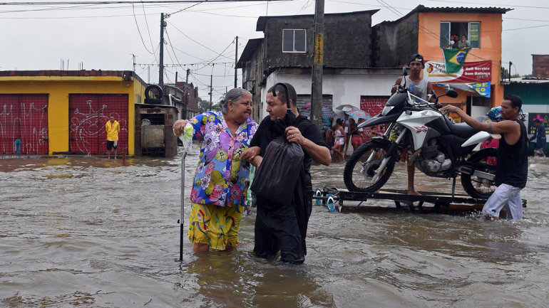
[[(361, 95), (389, 96), (391, 95), (391, 86), (394, 85), (396, 78), (399, 77), (399, 70), (394, 70), (394, 74), (374, 74), (374, 73), (356, 73), (349, 69), (337, 75), (324, 75), (322, 78), (322, 93), (332, 95), (333, 108), (339, 105), (349, 104), (360, 108)], [(275, 83), (289, 83), (295, 87), (298, 95), (311, 95), (311, 75), (292, 75), (286, 73), (271, 73), (267, 77), (265, 87), (261, 89), (262, 118), (267, 116), (265, 111), (265, 96), (267, 90)]]

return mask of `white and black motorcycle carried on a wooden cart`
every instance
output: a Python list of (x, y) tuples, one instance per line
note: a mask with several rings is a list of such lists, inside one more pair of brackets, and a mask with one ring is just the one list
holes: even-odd
[[(403, 71), (406, 76), (406, 69)], [(440, 97), (457, 97), (448, 90)], [(491, 137), (488, 132), (478, 131), (466, 123), (456, 124), (438, 111), (442, 107), (417, 97), (404, 85), (386, 102), (379, 115), (362, 122), (358, 127), (371, 127), (389, 123), (380, 137), (358, 147), (347, 161), (344, 183), (349, 191), (378, 191), (391, 176), (396, 161), (405, 153), (411, 154), (409, 164), (427, 176), (453, 179), (455, 193), (456, 177), (461, 176), (461, 185), (473, 198), (488, 198), (496, 189), (497, 150), (476, 146)]]

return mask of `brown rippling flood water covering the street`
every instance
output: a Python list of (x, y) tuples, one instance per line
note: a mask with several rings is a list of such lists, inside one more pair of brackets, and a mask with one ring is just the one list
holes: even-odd
[[(342, 169), (313, 166), (313, 186), (342, 187)], [(548, 172), (530, 158), (519, 222), (314, 206), (305, 264), (291, 266), (253, 257), (253, 212), (237, 250), (194, 255), (185, 238), (178, 262), (180, 157), (0, 159), (0, 307), (547, 307)], [(397, 166), (387, 187), (405, 184)]]

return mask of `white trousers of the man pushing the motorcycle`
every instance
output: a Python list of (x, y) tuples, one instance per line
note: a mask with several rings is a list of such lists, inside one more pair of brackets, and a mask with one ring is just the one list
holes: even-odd
[(499, 217), (499, 212), (505, 208), (508, 219), (523, 218), (523, 201), (520, 198), (520, 190), (521, 188), (515, 186), (501, 184), (484, 204), (482, 213)]

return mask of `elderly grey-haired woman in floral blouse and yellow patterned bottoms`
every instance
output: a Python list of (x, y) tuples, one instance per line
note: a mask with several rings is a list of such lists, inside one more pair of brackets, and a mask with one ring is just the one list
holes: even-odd
[(239, 243), (240, 219), (250, 185), (250, 166), (240, 155), (257, 130), (257, 123), (250, 119), (252, 95), (235, 88), (220, 105), (221, 112), (206, 112), (173, 124), (179, 135), (189, 122), (194, 128), (193, 139), (202, 142), (190, 193), (193, 208), (188, 238), (195, 252), (230, 250)]

